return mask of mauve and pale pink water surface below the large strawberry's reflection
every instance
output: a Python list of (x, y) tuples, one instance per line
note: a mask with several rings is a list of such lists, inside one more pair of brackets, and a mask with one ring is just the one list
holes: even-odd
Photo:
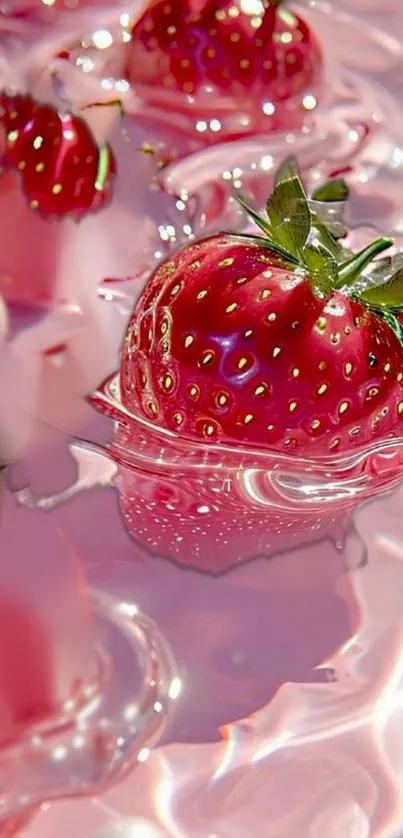
[[(94, 514), (108, 515), (115, 561), (98, 550), (88, 576), (118, 597), (136, 589), (183, 695), (171, 744), (92, 803), (44, 807), (34, 834), (52, 835), (64, 812), (85, 838), (399, 834), (401, 491), (363, 507), (344, 555), (322, 542), (221, 580), (133, 555), (103, 497)], [(78, 503), (50, 514), (83, 550)]]

